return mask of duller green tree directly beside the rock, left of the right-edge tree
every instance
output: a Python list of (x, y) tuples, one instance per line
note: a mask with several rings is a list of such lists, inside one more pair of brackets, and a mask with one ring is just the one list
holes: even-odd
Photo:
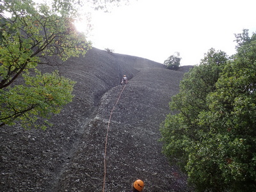
[[(220, 60), (210, 60), (216, 54), (220, 56)], [(207, 110), (206, 96), (216, 89), (214, 84), (226, 60), (225, 52), (210, 49), (201, 61), (201, 65), (195, 66), (190, 73), (185, 74), (180, 82), (180, 92), (172, 97), (170, 109), (180, 113), (167, 116), (164, 127), (161, 129), (162, 141), (164, 141), (164, 154), (170, 158), (172, 163), (179, 164), (181, 168), (184, 168), (188, 162), (189, 154), (186, 148), (192, 144), (191, 141), (198, 140), (196, 118), (200, 111)]]

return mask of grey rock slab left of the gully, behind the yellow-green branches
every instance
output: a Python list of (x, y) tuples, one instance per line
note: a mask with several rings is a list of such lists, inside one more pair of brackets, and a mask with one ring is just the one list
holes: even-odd
[(54, 126), (46, 131), (25, 131), (19, 125), (1, 127), (0, 191), (53, 191), (101, 96), (120, 84), (123, 72), (130, 77), (138, 73), (127, 63), (95, 48), (84, 58), (70, 58), (58, 67), (38, 68), (44, 72), (60, 69), (62, 76), (77, 82), (76, 96), (60, 114), (52, 115)]

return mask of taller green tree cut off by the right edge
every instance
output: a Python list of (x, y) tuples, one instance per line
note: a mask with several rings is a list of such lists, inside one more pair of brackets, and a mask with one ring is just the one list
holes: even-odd
[(216, 177), (222, 178), (223, 186), (230, 191), (255, 191), (256, 35), (250, 37), (246, 29), (236, 38), (237, 53), (225, 66), (216, 92), (208, 95), (210, 110), (202, 113), (200, 124), (209, 125), (218, 138), (220, 175)]

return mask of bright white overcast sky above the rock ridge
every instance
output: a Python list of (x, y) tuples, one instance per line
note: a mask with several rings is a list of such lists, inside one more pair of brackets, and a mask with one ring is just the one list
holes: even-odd
[(255, 0), (131, 0), (111, 13), (93, 12), (88, 40), (159, 63), (180, 52), (181, 65), (196, 65), (211, 47), (234, 54), (234, 33), (256, 31), (255, 10)]

